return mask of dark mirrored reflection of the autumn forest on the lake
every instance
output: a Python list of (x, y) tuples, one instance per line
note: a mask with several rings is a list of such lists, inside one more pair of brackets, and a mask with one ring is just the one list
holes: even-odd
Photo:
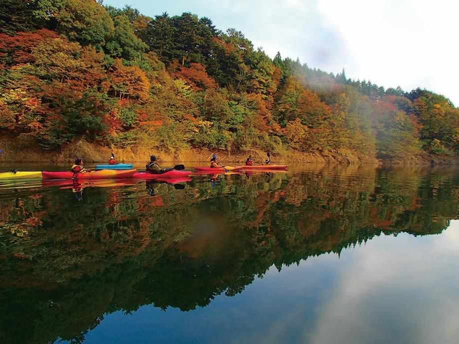
[(84, 206), (71, 190), (3, 197), (0, 343), (82, 342), (107, 313), (205, 307), (273, 264), (340, 253), (382, 233), (439, 234), (458, 218), (455, 171), (357, 172), (259, 174), (214, 188), (194, 179), (180, 193), (162, 184), (154, 197), (140, 187), (88, 187)]

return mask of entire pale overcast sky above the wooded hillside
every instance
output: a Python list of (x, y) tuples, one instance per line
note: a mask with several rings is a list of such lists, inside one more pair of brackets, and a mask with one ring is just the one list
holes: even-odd
[(104, 0), (154, 16), (192, 12), (234, 27), (271, 57), (410, 91), (427, 88), (459, 106), (455, 0)]

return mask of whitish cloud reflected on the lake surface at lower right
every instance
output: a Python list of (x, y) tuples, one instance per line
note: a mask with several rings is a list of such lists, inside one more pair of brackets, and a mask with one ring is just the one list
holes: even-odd
[[(352, 252), (308, 343), (457, 343), (459, 221), (441, 236), (403, 234)], [(409, 246), (409, 249), (406, 247)], [(457, 279), (456, 279), (457, 280)], [(391, 329), (391, 331), (388, 331)]]

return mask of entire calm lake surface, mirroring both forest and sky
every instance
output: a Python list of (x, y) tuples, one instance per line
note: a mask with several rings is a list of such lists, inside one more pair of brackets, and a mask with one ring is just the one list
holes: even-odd
[(456, 344), (458, 199), (455, 168), (3, 180), (0, 343)]

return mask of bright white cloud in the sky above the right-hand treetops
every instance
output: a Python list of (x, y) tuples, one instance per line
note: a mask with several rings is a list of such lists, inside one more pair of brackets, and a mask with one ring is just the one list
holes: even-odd
[(459, 105), (455, 1), (320, 0), (351, 51), (348, 76), (385, 87), (432, 89)]

